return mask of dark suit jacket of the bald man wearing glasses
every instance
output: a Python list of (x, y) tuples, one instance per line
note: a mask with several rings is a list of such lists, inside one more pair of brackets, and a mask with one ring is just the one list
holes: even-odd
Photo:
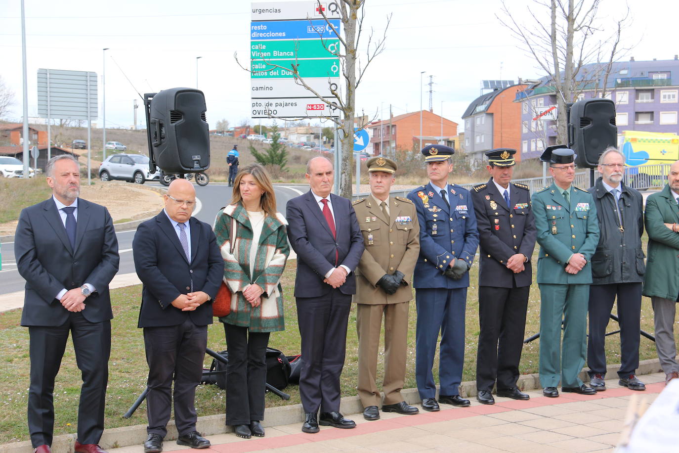
[(210, 225), (191, 217), (191, 264), (165, 211), (141, 223), (132, 241), (134, 267), (144, 284), (138, 327), (179, 325), (191, 317), (196, 325), (213, 322), (212, 302), (183, 312), (172, 306), (180, 294), (204, 291), (214, 299), (224, 276), (224, 260)]

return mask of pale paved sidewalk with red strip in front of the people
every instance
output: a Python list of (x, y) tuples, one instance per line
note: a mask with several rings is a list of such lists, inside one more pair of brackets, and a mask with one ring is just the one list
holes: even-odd
[[(213, 446), (205, 453), (238, 452), (612, 452), (623, 431), (631, 395), (652, 403), (665, 388), (662, 373), (642, 376), (646, 391), (620, 387), (606, 380), (608, 390), (586, 396), (562, 393), (558, 398), (529, 391), (530, 400), (496, 397), (495, 405), (471, 399), (471, 407), (441, 405), (439, 412), (416, 416), (385, 414), (367, 422), (354, 414), (355, 429), (321, 427), (320, 433), (301, 433), (301, 423), (266, 428), (266, 437), (240, 439), (234, 434), (208, 436)], [(113, 448), (109, 453), (143, 453), (142, 446)], [(197, 450), (164, 442), (164, 451)]]

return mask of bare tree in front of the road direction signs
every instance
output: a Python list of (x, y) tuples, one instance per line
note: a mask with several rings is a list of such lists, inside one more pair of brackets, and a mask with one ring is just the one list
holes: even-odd
[[(356, 88), (361, 84), (365, 71), (373, 59), (384, 51), (386, 31), (389, 28), (391, 16), (387, 16), (386, 18), (384, 34), (381, 37), (375, 37), (374, 30), (370, 31), (367, 36), (365, 54), (361, 56), (359, 46), (361, 45), (361, 38), (364, 35), (363, 22), (365, 20), (365, 0), (337, 0), (337, 3), (339, 3), (339, 12), (341, 14), (340, 22), (342, 22), (341, 28), (343, 33), (340, 33), (326, 16), (320, 1), (318, 2), (318, 10), (335, 34), (333, 39), (339, 38), (339, 42), (342, 45), (342, 50), (338, 50), (335, 46), (331, 49), (325, 44), (325, 41), (323, 42), (325, 49), (339, 58), (342, 77), (345, 81), (345, 90), (343, 93), (340, 93), (338, 90), (331, 90), (332, 96), (323, 96), (323, 94), (314, 90), (314, 88), (306, 83), (304, 77), (299, 75), (297, 58), (295, 58), (295, 63), (292, 67), (282, 67), (276, 65), (275, 60), (265, 60), (270, 66), (265, 71), (270, 71), (272, 67), (292, 71), (296, 84), (304, 86), (306, 90), (312, 92), (314, 96), (327, 104), (331, 111), (333, 111), (332, 116), (323, 117), (331, 120), (337, 126), (337, 135), (339, 142), (342, 145), (342, 162), (339, 164), (340, 168), (335, 168), (335, 177), (339, 177), (339, 195), (350, 198), (352, 194), (351, 160), (354, 151), (353, 137), (354, 117), (356, 116)], [(238, 60), (238, 58), (236, 58), (236, 60)], [(335, 116), (335, 113), (342, 113), (342, 116)], [(270, 117), (276, 116), (270, 115)], [(360, 130), (367, 124), (368, 122), (361, 121), (359, 124), (356, 124), (356, 126)]]

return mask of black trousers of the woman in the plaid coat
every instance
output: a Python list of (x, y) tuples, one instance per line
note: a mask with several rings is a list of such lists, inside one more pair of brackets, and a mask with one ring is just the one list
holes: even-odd
[(226, 365), (226, 424), (264, 419), (266, 346), (269, 332), (224, 323), (229, 363)]

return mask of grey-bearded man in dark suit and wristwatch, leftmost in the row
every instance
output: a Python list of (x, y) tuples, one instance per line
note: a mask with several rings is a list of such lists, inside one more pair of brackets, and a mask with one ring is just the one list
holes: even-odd
[(29, 431), (34, 452), (50, 453), (54, 378), (69, 331), (83, 385), (75, 451), (102, 453), (104, 402), (111, 353), (109, 283), (118, 271), (118, 242), (109, 211), (78, 198), (80, 171), (70, 155), (45, 167), (52, 198), (19, 217), (14, 253), (26, 279), (21, 325), (31, 337)]

